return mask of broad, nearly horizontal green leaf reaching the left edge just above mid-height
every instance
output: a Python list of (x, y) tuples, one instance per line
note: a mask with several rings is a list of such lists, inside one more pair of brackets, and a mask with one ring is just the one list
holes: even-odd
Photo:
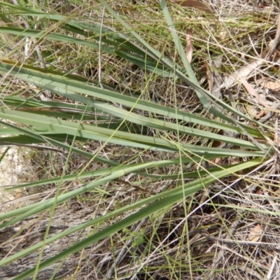
[[(184, 143), (181, 143), (178, 146), (176, 142), (174, 143), (173, 141), (169, 141), (168, 139), (164, 138), (148, 137), (129, 132), (110, 130), (104, 127), (73, 123), (67, 120), (58, 120), (57, 118), (50, 118), (47, 116), (40, 116), (33, 113), (14, 111), (4, 108), (0, 108), (0, 118), (6, 118), (17, 123), (31, 125), (35, 132), (70, 134), (72, 136), (76, 135), (78, 137), (83, 137), (84, 139), (108, 142), (121, 146), (131, 146), (134, 148), (151, 148), (156, 151), (174, 152), (181, 149), (181, 151), (186, 151), (186, 153), (193, 153), (196, 155), (212, 154), (216, 155), (217, 158), (228, 157), (230, 155), (240, 157), (265, 155), (264, 152), (260, 151), (241, 151), (239, 149), (212, 148)], [(233, 144), (235, 144), (235, 141)], [(265, 145), (263, 145), (263, 147), (267, 148)], [(251, 148), (253, 148), (253, 146), (251, 146)]]

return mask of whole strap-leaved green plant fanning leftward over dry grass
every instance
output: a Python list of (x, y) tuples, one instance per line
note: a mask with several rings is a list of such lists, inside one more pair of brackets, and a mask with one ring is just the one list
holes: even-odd
[[(160, 0), (161, 13), (165, 16), (165, 30), (172, 37), (176, 59), (164, 55), (148, 43), (106, 1), (99, 0), (99, 3), (99, 7), (104, 8), (104, 14), (118, 22), (118, 31), (105, 22), (85, 22), (70, 15), (44, 12), (44, 8), (26, 8), (1, 1), (5, 11), (1, 13), (1, 20), (6, 25), (0, 27), (0, 33), (8, 38), (3, 50), (8, 49), (10, 54), (7, 57), (3, 52), (0, 61), (0, 133), (5, 137), (0, 141), (1, 146), (35, 144), (55, 147), (66, 155), (66, 162), (75, 155), (89, 163), (101, 162), (103, 167), (70, 174), (63, 172), (62, 176), (7, 188), (7, 191), (29, 190), (52, 184), (56, 186), (56, 193), (43, 201), (31, 202), (0, 214), (0, 230), (45, 211), (50, 211), (52, 217), (57, 206), (94, 190), (102, 193), (103, 186), (125, 179), (130, 174), (151, 185), (164, 181), (166, 186), (51, 237), (47, 230), (42, 241), (0, 260), (0, 267), (3, 267), (34, 251), (41, 251), (38, 264), (15, 279), (34, 276), (55, 262), (62, 262), (69, 255), (111, 237), (144, 218), (164, 213), (172, 205), (188, 200), (188, 197), (214, 183), (223, 182), (229, 176), (241, 181), (246, 174), (257, 170), (274, 155), (272, 141), (269, 141), (273, 137), (270, 127), (218, 99), (197, 81), (192, 65), (186, 58), (184, 42), (176, 31), (165, 1)], [(27, 25), (14, 25), (15, 18)], [(40, 28), (36, 28), (38, 25)], [(99, 68), (99, 79), (89, 81), (75, 73), (62, 71), (63, 66), (59, 68), (56, 63), (47, 63), (43, 68), (32, 59), (20, 60), (15, 55), (13, 60), (13, 53), (22, 48), (22, 45), (15, 46), (17, 42), (22, 45), (31, 43), (31, 48), (34, 52), (38, 50), (38, 53), (44, 44), (51, 42), (53, 45), (87, 48), (97, 53), (100, 59), (104, 54), (118, 57), (119, 60), (114, 60), (114, 63), (125, 61), (142, 69), (146, 84), (135, 90), (132, 80), (116, 88), (116, 85), (102, 83), (100, 76), (105, 75), (102, 67)], [(47, 54), (40, 53), (43, 55), (41, 62), (48, 61)], [(193, 90), (200, 102), (200, 110), (190, 112), (178, 109), (176, 104), (169, 106), (165, 102), (146, 98), (148, 78), (155, 76), (169, 83), (171, 81), (174, 87), (183, 83)], [(23, 93), (22, 88), (12, 92), (16, 81), (33, 88), (33, 92)], [(42, 92), (57, 98), (42, 100), (38, 98)], [(83, 148), (83, 144), (80, 145), (88, 142), (98, 143), (99, 148), (92, 153)], [(150, 151), (168, 156), (122, 162), (102, 153), (107, 146), (126, 151), (123, 153), (134, 150), (141, 155)], [(232, 158), (238, 161), (225, 164)], [(159, 174), (159, 170), (169, 168), (173, 170), (170, 174)], [(62, 191), (62, 185), (70, 185), (75, 180), (85, 180), (86, 183), (79, 188), (63, 188)], [(116, 222), (108, 225), (109, 221)], [(104, 227), (99, 228), (102, 223)], [(96, 230), (60, 253), (43, 258), (46, 245), (87, 228)]]

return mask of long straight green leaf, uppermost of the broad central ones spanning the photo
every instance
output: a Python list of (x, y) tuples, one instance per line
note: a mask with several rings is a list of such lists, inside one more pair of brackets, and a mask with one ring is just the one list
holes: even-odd
[[(55, 92), (57, 94), (64, 94), (64, 96), (70, 99), (73, 99), (73, 97), (75, 97), (76, 100), (79, 99), (78, 101), (81, 101), (83, 103), (85, 103), (85, 97), (80, 94), (87, 94), (91, 97), (105, 99), (109, 102), (116, 102), (130, 108), (168, 116), (169, 118), (175, 118), (177, 120), (183, 120), (183, 122), (186, 123), (196, 123), (198, 125), (217, 128), (219, 130), (227, 130), (229, 132), (238, 132), (241, 134), (243, 133), (243, 131), (239, 127), (226, 125), (215, 120), (209, 120), (207, 118), (196, 116), (192, 113), (168, 108), (160, 104), (149, 102), (148, 100), (141, 100), (124, 94), (119, 94), (118, 92), (103, 90), (102, 88), (87, 85), (85, 83), (80, 83), (76, 80), (62, 78), (59, 75), (44, 73), (45, 71), (41, 71), (41, 69), (27, 69), (24, 66), (15, 66), (13, 63), (0, 62), (0, 71), (13, 74), (18, 78), (21, 78), (22, 80), (51, 90), (52, 92)], [(79, 92), (80, 94), (76, 94), (74, 92)], [(264, 136), (262, 135), (262, 133), (260, 133), (260, 131), (248, 125), (242, 125), (241, 123), (239, 123), (239, 125), (241, 125), (244, 130), (246, 130), (246, 132), (251, 134), (253, 137), (264, 139)]]

